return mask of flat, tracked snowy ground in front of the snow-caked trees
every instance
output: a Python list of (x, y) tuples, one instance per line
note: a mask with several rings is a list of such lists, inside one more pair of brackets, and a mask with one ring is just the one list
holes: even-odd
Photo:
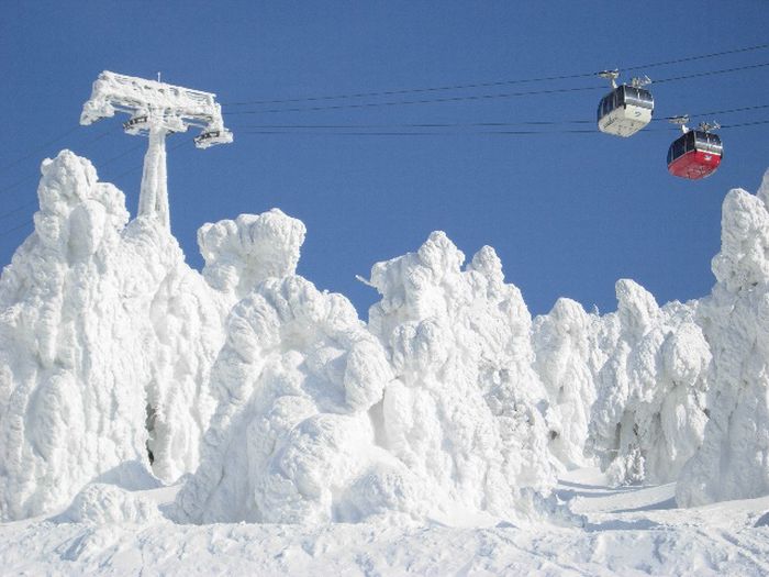
[[(177, 488), (146, 491), (160, 510)], [(679, 510), (673, 485), (608, 488), (593, 469), (558, 493), (584, 529), (374, 524), (0, 525), (4, 575), (767, 575), (769, 497)], [(475, 524), (478, 519), (468, 520)]]

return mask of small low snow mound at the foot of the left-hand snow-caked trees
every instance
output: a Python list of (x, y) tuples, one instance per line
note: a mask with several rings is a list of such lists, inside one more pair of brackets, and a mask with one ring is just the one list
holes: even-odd
[(157, 503), (147, 497), (129, 492), (114, 485), (92, 484), (85, 487), (59, 522), (143, 524), (161, 520)]

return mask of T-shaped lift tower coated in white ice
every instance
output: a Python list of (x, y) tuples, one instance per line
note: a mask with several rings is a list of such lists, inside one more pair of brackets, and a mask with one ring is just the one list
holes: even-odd
[(168, 134), (198, 126), (202, 129), (194, 138), (198, 148), (232, 142), (232, 133), (224, 127), (222, 107), (214, 101), (215, 96), (167, 85), (159, 78), (157, 81), (146, 80), (108, 70), (93, 82), (91, 98), (82, 107), (80, 124), (113, 116), (115, 111), (125, 112), (131, 114), (123, 124), (125, 132), (149, 138), (138, 199), (140, 217), (155, 217), (166, 229), (170, 228), (166, 177)]

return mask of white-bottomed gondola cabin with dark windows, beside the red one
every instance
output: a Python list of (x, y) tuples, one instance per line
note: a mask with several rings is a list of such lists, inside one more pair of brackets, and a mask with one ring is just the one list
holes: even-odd
[(618, 70), (604, 70), (599, 76), (611, 81), (612, 91), (598, 106), (598, 130), (627, 137), (651, 122), (654, 97), (644, 88), (651, 82), (648, 77), (633, 78), (629, 85), (616, 86)]

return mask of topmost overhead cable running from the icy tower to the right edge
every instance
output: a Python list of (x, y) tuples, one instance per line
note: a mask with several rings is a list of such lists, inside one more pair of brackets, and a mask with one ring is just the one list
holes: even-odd
[[(642, 69), (658, 68), (660, 66), (670, 66), (670, 65), (675, 65), (675, 64), (703, 60), (703, 59), (707, 59), (707, 58), (715, 58), (718, 56), (726, 56), (726, 55), (732, 55), (732, 54), (754, 52), (754, 51), (766, 49), (766, 48), (769, 48), (769, 44), (758, 44), (758, 45), (754, 45), (754, 46), (745, 46), (745, 47), (734, 48), (734, 49), (729, 49), (729, 51), (722, 51), (722, 52), (715, 52), (715, 53), (710, 53), (710, 54), (700, 54), (700, 55), (688, 56), (688, 57), (683, 57), (683, 58), (675, 58), (671, 60), (625, 66), (623, 69), (624, 70), (642, 70)], [(491, 88), (491, 87), (495, 87), (495, 86), (511, 86), (511, 85), (519, 85), (519, 84), (533, 84), (533, 82), (545, 82), (545, 81), (555, 81), (555, 80), (576, 80), (578, 78), (594, 77), (597, 74), (598, 74), (597, 71), (589, 71), (589, 73), (586, 71), (586, 73), (576, 73), (576, 74), (568, 74), (568, 75), (544, 76), (544, 77), (539, 77), (539, 78), (519, 78), (519, 79), (512, 79), (512, 80), (499, 80), (499, 81), (491, 81), (491, 82), (471, 82), (471, 84), (436, 86), (436, 87), (405, 88), (405, 89), (399, 89), (399, 90), (379, 90), (379, 91), (372, 91), (372, 92), (354, 92), (354, 93), (345, 93), (345, 95), (330, 95), (330, 96), (327, 95), (327, 96), (317, 96), (317, 97), (287, 98), (287, 99), (276, 99), (276, 100), (249, 100), (249, 101), (241, 101), (241, 102), (223, 102), (222, 106), (223, 107), (238, 107), (238, 106), (250, 106), (250, 104), (283, 104), (283, 103), (293, 103), (293, 102), (315, 102), (315, 101), (322, 101), (322, 100), (345, 100), (345, 99), (357, 99), (357, 98), (375, 98), (375, 97), (386, 97), (386, 96), (410, 95), (410, 93), (420, 93), (420, 92), (437, 92), (437, 91), (444, 91), (444, 90), (465, 90), (465, 89), (471, 89), (471, 88)]]

